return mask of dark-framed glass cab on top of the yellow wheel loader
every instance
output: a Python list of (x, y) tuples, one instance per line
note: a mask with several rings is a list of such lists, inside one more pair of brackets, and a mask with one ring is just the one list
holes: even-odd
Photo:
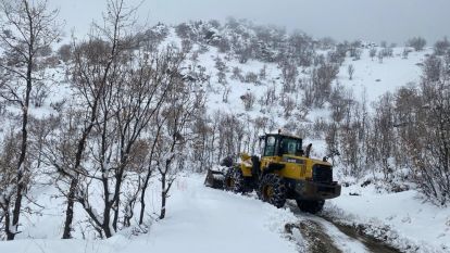
[(302, 139), (299, 137), (271, 134), (260, 137), (264, 144), (261, 156), (283, 156), (285, 154), (303, 156)]

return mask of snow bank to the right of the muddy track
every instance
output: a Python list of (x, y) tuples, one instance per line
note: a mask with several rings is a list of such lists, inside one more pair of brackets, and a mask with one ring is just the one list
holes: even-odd
[(418, 198), (414, 190), (380, 194), (373, 184), (352, 185), (323, 213), (404, 252), (450, 252), (450, 210)]

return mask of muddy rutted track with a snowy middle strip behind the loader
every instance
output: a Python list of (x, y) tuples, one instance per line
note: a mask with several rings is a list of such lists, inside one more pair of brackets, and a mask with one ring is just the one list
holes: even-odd
[[(293, 233), (298, 229), (305, 240), (300, 252), (311, 253), (399, 253), (400, 251), (384, 244), (368, 236), (361, 235), (355, 228), (345, 226), (324, 217), (301, 212), (295, 204), (288, 203), (299, 222), (287, 224), (285, 229)], [(301, 242), (299, 242), (301, 243)]]

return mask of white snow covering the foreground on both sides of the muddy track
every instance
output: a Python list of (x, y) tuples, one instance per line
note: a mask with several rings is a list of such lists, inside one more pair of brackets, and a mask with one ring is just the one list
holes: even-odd
[[(196, 174), (179, 176), (168, 199), (167, 217), (154, 220), (147, 233), (134, 227), (105, 240), (84, 240), (79, 232), (77, 239), (59, 239), (64, 205), (50, 201), (51, 188), (41, 188), (35, 192), (38, 200), (52, 207), (39, 217), (28, 216), (28, 226), (16, 240), (1, 242), (0, 252), (303, 252), (314, 240), (302, 237), (304, 231), (285, 231), (286, 224), (299, 223), (317, 227), (329, 238), (325, 243), (341, 252), (372, 252), (363, 241), (349, 237), (330, 222), (301, 213), (293, 203), (276, 208), (255, 194), (207, 188), (203, 179), (203, 175)], [(150, 203), (158, 203), (158, 187), (154, 184), (149, 190)], [(423, 203), (415, 191), (380, 194), (373, 185), (351, 186), (343, 188), (340, 198), (326, 202), (320, 216), (363, 228), (365, 233), (404, 252), (450, 252), (450, 211)]]

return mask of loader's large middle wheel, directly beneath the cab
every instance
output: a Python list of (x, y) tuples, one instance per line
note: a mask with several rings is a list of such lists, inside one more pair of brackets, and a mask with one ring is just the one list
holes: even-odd
[(286, 203), (286, 187), (283, 179), (276, 174), (265, 175), (260, 182), (258, 192), (260, 199), (280, 208)]

